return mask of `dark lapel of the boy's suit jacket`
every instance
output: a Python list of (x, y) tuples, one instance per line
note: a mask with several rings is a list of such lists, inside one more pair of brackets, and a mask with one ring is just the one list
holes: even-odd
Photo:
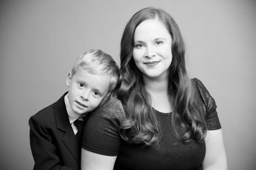
[(55, 103), (56, 124), (57, 128), (64, 132), (64, 136), (62, 138), (63, 143), (74, 156), (76, 161), (80, 163), (80, 152), (78, 144), (73, 129), (70, 126), (68, 113), (64, 102), (64, 97), (66, 94), (67, 92)]

